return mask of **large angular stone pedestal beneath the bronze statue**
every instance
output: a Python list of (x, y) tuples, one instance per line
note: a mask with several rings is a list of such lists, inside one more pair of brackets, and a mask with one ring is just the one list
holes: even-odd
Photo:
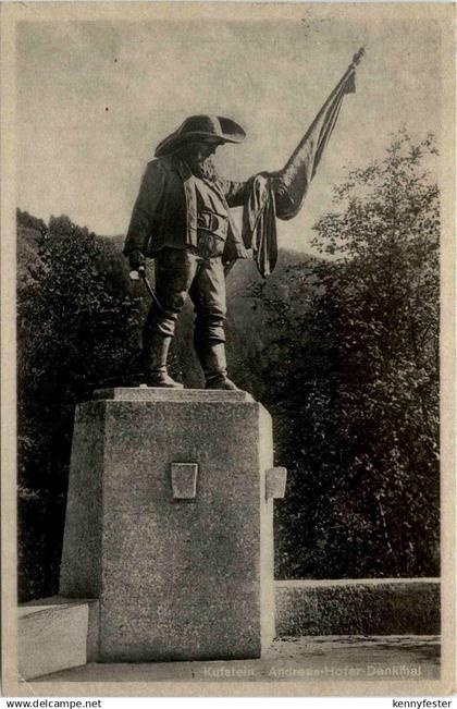
[(99, 660), (259, 657), (284, 480), (270, 415), (245, 392), (95, 396), (76, 411), (60, 594), (99, 599)]

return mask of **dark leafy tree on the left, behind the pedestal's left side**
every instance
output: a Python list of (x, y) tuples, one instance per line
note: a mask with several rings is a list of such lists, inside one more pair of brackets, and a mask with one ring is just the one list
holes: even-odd
[(125, 382), (138, 350), (139, 303), (114, 249), (64, 216), (36, 241), (17, 293), (22, 598), (58, 588), (75, 405)]

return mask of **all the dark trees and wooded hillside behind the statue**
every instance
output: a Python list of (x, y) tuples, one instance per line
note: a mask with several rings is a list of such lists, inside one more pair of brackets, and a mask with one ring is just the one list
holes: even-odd
[[(439, 191), (431, 137), (335, 187), (320, 258), (281, 253), (227, 281), (231, 374), (273, 415), (276, 576), (433, 576), (439, 567)], [(57, 591), (76, 402), (138, 381), (147, 300), (122, 237), (17, 212), (20, 586)], [(172, 371), (201, 384), (192, 310)]]

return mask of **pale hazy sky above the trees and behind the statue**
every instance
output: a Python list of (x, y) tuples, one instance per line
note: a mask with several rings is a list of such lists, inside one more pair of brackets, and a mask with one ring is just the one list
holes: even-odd
[(350, 8), (164, 15), (149, 7), (139, 20), (21, 22), (20, 208), (125, 233), (156, 145), (195, 113), (232, 118), (247, 133), (218, 149), (224, 176), (280, 169), (365, 45), (357, 93), (344, 99), (302, 210), (279, 223), (281, 246), (310, 250), (312, 224), (332, 209), (332, 185), (348, 167), (381, 157), (402, 125), (423, 137), (440, 135), (442, 122), (440, 26), (404, 19), (399, 5), (382, 20), (375, 7)]

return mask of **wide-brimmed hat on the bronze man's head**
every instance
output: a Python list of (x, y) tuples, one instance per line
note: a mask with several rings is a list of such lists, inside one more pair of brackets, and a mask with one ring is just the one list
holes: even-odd
[(232, 119), (221, 115), (190, 115), (180, 127), (161, 140), (156, 148), (156, 158), (171, 155), (185, 143), (214, 140), (215, 143), (242, 143), (246, 133)]

